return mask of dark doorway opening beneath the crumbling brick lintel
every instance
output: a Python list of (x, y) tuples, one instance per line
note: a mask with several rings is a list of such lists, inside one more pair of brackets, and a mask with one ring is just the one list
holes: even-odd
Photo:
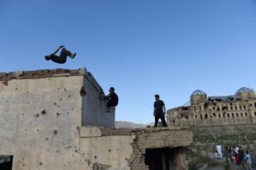
[(146, 149), (145, 164), (149, 170), (174, 170), (176, 169), (175, 148)]

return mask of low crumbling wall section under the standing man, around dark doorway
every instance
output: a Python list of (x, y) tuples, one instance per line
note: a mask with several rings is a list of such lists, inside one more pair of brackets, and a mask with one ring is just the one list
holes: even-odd
[(105, 169), (148, 170), (145, 164), (146, 149), (174, 148), (177, 170), (188, 169), (185, 152), (192, 143), (188, 130), (168, 128), (101, 129), (82, 127), (80, 153), (84, 164), (91, 169), (104, 165)]

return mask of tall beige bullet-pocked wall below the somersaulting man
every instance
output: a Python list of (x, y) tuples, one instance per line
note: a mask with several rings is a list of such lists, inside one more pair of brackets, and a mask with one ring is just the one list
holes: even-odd
[(85, 69), (0, 73), (0, 155), (14, 156), (14, 170), (87, 169), (79, 154), (82, 111), (87, 107), (93, 114), (99, 106), (84, 104), (81, 89), (100, 92), (87, 89), (94, 82), (86, 81), (86, 74)]

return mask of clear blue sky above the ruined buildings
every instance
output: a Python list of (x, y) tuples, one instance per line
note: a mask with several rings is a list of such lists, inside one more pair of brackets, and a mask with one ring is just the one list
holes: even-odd
[[(75, 60), (46, 62), (59, 45)], [(0, 58), (0, 72), (86, 67), (116, 88), (117, 120), (151, 123), (154, 94), (173, 108), (256, 90), (256, 1), (0, 0)]]

